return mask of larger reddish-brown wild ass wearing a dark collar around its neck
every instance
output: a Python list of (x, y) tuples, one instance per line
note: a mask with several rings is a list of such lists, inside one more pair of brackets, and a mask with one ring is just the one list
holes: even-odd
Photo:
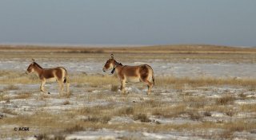
[(111, 54), (109, 60), (103, 67), (103, 72), (112, 69), (112, 74), (115, 73), (121, 82), (121, 90), (124, 94), (126, 88), (126, 82), (136, 83), (144, 82), (147, 84), (147, 94), (150, 95), (150, 91), (154, 85), (154, 72), (150, 65), (142, 64), (137, 66), (122, 65), (114, 60), (114, 55)]

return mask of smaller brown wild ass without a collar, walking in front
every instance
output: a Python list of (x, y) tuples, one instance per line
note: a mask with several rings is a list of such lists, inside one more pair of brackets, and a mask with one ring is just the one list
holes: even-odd
[[(46, 81), (55, 80), (58, 81), (59, 85), (59, 94), (62, 94), (62, 91), (64, 89), (64, 84), (66, 84), (66, 94), (69, 94), (69, 82), (67, 81), (67, 72), (65, 68), (57, 67), (57, 68), (42, 68), (39, 64), (37, 64), (34, 59), (32, 59), (32, 63), (29, 65), (29, 67), (26, 69), (26, 74), (35, 72), (39, 79), (41, 80), (41, 86), (40, 90), (43, 93), (46, 93), (44, 89), (44, 85), (46, 84)], [(48, 94), (50, 92), (48, 91)]]

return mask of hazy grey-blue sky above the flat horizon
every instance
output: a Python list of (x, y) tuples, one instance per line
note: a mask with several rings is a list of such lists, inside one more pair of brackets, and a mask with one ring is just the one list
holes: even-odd
[(256, 0), (1, 0), (6, 43), (256, 46)]

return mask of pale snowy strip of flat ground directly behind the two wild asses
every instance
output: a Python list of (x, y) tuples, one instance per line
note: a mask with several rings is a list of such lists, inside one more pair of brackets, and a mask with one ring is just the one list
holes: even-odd
[[(20, 60), (0, 60), (0, 70), (14, 70), (25, 72), (30, 64), (29, 61)], [(95, 60), (46, 60), (38, 61), (42, 68), (53, 68), (62, 66), (68, 72), (87, 74), (103, 73), (104, 62)], [(166, 63), (164, 60), (137, 61), (134, 63), (122, 62), (125, 65), (150, 64), (154, 69), (156, 76), (177, 76), (177, 77), (195, 77), (195, 76), (218, 76), (218, 77), (256, 77), (256, 64), (245, 63)]]

